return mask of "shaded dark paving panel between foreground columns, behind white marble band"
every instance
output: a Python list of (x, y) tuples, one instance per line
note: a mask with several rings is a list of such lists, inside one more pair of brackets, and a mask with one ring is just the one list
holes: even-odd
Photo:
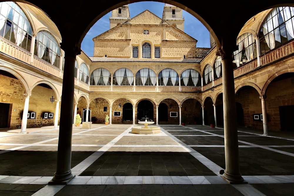
[(80, 176), (216, 175), (190, 153), (105, 152)]

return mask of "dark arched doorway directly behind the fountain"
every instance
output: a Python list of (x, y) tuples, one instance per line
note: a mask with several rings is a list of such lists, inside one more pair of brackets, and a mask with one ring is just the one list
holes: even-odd
[(137, 120), (138, 121), (153, 121), (154, 119), (153, 104), (149, 100), (142, 100), (138, 103)]

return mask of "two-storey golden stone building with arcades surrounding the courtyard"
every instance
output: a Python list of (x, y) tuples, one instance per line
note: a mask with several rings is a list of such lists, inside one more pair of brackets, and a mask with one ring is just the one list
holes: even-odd
[[(181, 9), (170, 4), (162, 18), (146, 10), (130, 19), (121, 1), (75, 1), (80, 12), (74, 14), (69, 8), (76, 7), (63, 2), (27, 2), (0, 3), (0, 128), (25, 133), (30, 126), (60, 122), (65, 142), (77, 113), (83, 122), (96, 117), (96, 123), (108, 114), (110, 125), (145, 119), (208, 125), (213, 116), (231, 144), (225, 174), (235, 181), (242, 181), (233, 161), (237, 125), (265, 135), (268, 129), (293, 131), (294, 10), (287, 2), (278, 7), (254, 1), (242, 13), (222, 6), (219, 16), (206, 2), (173, 1), (206, 25), (211, 48), (197, 48), (197, 40), (184, 32)], [(111, 7), (111, 29), (93, 38), (89, 57), (80, 50), (81, 39)], [(72, 177), (70, 143), (64, 146), (59, 153), (67, 155), (66, 166), (58, 168), (66, 171), (57, 172), (56, 181)]]

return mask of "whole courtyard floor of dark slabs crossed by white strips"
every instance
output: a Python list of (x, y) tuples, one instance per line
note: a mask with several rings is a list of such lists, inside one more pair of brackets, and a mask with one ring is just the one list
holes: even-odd
[[(138, 126), (138, 125), (136, 125)], [(132, 125), (73, 127), (67, 185), (48, 185), (56, 171), (59, 130), (0, 132), (0, 195), (294, 195), (294, 133), (238, 129), (240, 171), (228, 184), (224, 131), (202, 125), (161, 125), (132, 134)]]

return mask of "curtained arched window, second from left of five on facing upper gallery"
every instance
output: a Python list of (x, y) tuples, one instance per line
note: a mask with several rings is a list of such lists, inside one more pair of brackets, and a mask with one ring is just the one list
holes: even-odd
[(128, 68), (120, 68), (113, 74), (113, 85), (133, 85), (134, 74)]

